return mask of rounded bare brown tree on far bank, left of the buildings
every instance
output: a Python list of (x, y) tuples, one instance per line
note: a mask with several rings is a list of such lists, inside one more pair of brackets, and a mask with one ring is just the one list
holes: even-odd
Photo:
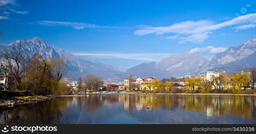
[(86, 75), (84, 83), (90, 90), (96, 91), (103, 84), (103, 80), (97, 75)]

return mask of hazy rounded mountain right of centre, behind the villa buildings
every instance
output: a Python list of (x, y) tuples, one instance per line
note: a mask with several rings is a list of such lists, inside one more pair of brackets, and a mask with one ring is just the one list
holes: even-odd
[(134, 78), (153, 76), (157, 79), (180, 77), (201, 71), (209, 61), (199, 54), (181, 53), (163, 59), (159, 63), (142, 63), (118, 75), (122, 80), (132, 73)]

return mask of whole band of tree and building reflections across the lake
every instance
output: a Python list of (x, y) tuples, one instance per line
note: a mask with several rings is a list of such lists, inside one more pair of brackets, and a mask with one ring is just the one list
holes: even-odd
[[(154, 111), (185, 110), (203, 113), (206, 116), (256, 117), (255, 96), (166, 96), (166, 95), (86, 95), (63, 97), (27, 105), (20, 105), (1, 111), (1, 124), (49, 124), (67, 123), (66, 117), (74, 114), (89, 114), (104, 118), (102, 107), (114, 110), (114, 106), (124, 104), (129, 114), (135, 110)], [(73, 107), (73, 106), (76, 107)], [(106, 109), (107, 110), (107, 109)], [(75, 111), (75, 112), (74, 112)], [(110, 112), (108, 111), (108, 112)], [(112, 111), (111, 111), (112, 112)], [(119, 111), (115, 111), (119, 112)], [(113, 113), (113, 112), (112, 112)], [(63, 114), (63, 115), (62, 115)], [(113, 114), (114, 116), (114, 114)], [(164, 116), (164, 115), (163, 115)], [(108, 116), (109, 117), (109, 116)], [(78, 118), (83, 119), (83, 118)], [(90, 118), (87, 118), (90, 121)], [(92, 120), (92, 119), (91, 119)]]

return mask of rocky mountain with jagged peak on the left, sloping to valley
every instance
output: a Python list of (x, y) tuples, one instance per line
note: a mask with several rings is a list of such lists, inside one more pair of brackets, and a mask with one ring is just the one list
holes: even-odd
[(68, 63), (68, 74), (76, 78), (78, 76), (84, 76), (88, 74), (100, 75), (103, 78), (107, 78), (112, 75), (117, 75), (122, 73), (115, 67), (102, 63), (92, 63), (81, 59), (61, 48), (48, 45), (44, 40), (35, 37), (28, 40), (16, 40), (11, 42), (8, 46), (1, 46), (0, 54), (6, 53), (8, 51), (15, 50), (15, 48), (21, 46), (22, 51), (26, 54), (26, 58), (31, 58), (35, 53), (40, 53), (44, 57), (65, 57)]

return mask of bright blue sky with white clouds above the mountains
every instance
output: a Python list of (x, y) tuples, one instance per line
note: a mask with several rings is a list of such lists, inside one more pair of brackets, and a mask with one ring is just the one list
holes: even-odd
[(121, 71), (256, 37), (255, 0), (1, 0), (2, 45), (35, 36)]

